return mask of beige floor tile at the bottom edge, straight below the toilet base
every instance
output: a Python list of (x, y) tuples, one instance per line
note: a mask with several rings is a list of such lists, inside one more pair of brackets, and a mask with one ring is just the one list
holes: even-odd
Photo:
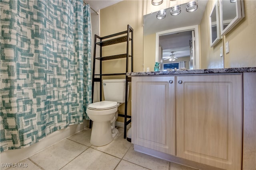
[(89, 148), (62, 170), (114, 170), (119, 161), (119, 158)]

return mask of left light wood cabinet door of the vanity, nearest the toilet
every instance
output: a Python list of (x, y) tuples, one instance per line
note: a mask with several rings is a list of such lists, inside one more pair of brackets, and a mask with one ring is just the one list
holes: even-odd
[(133, 144), (175, 155), (174, 79), (132, 76)]

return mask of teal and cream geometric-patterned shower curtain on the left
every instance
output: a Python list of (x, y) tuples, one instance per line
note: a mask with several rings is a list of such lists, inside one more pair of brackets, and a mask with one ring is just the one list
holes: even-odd
[(0, 0), (0, 9), (3, 152), (87, 118), (92, 38), (82, 0)]

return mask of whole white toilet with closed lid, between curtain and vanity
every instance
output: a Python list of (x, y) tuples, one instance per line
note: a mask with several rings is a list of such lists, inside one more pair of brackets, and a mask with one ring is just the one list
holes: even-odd
[(105, 101), (88, 105), (86, 113), (93, 121), (90, 139), (92, 145), (107, 145), (118, 135), (115, 123), (118, 118), (118, 106), (125, 102), (125, 83), (125, 79), (103, 80)]

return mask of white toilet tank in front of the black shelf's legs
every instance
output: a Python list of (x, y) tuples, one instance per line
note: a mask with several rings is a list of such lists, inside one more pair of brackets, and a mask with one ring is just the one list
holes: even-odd
[[(103, 93), (106, 101), (125, 102), (125, 79), (106, 79), (103, 82)], [(130, 83), (128, 82), (128, 97)], [(128, 100), (128, 98), (127, 98)]]

